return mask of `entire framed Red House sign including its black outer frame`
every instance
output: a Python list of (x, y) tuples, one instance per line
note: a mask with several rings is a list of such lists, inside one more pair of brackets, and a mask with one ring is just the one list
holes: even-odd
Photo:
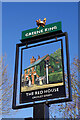
[[(46, 100), (47, 105), (72, 101), (68, 34), (54, 34), (37, 37), (44, 41), (44, 38), (49, 40), (47, 36), (52, 36), (51, 41), (34, 44), (34, 37), (31, 38), (32, 46), (24, 47), (26, 42), (16, 44), (13, 109), (33, 107), (46, 103)], [(65, 39), (54, 40), (54, 36)]]

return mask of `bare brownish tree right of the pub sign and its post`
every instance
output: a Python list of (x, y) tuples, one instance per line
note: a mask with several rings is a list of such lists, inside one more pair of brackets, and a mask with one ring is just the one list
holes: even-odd
[[(77, 118), (79, 117), (80, 109), (80, 92), (79, 92), (79, 75), (80, 74), (80, 60), (74, 58), (71, 64), (71, 87), (72, 87), (72, 102), (66, 102), (61, 104), (52, 105), (50, 108), (51, 114), (53, 110), (58, 111), (57, 114), (63, 118)], [(67, 86), (66, 86), (67, 87)], [(55, 109), (56, 108), (56, 109)], [(57, 116), (54, 112), (54, 116)]]

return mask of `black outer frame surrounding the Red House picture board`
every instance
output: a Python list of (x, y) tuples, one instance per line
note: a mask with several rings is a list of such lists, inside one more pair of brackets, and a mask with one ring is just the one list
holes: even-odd
[(41, 42), (41, 41), (44, 41), (44, 40), (49, 40), (49, 39), (52, 39), (52, 38), (56, 38), (56, 37), (58, 38), (58, 37), (63, 37), (63, 36), (65, 36), (65, 44), (66, 44), (68, 98), (63, 98), (63, 99), (59, 99), (59, 100), (52, 100), (52, 101), (47, 101), (47, 102), (41, 102), (41, 104), (45, 103), (45, 104), (49, 105), (49, 104), (72, 101), (71, 81), (70, 81), (70, 66), (69, 66), (68, 34), (67, 34), (67, 32), (58, 33), (58, 34), (55, 34), (55, 35), (52, 33), (52, 34), (48, 35), (47, 37), (40, 37), (39, 36), (39, 38), (36, 38), (35, 40), (32, 40), (31, 42), (26, 41), (24, 43), (16, 44), (15, 73), (14, 73), (14, 86), (13, 86), (13, 103), (12, 103), (12, 108), (13, 109), (21, 109), (21, 108), (33, 107), (33, 105), (40, 104), (40, 103), (32, 103), (32, 104), (16, 105), (18, 63), (19, 63), (19, 47), (22, 47), (22, 46), (25, 46), (25, 45), (27, 46), (28, 44), (33, 44), (33, 43)]

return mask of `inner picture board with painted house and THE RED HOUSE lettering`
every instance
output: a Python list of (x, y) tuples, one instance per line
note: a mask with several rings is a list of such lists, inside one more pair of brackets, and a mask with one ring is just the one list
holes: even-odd
[(24, 50), (20, 103), (66, 96), (62, 44), (57, 40)]

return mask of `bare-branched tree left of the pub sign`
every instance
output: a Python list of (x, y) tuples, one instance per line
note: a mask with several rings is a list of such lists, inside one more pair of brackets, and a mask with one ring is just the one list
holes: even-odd
[(0, 59), (0, 115), (7, 115), (11, 111), (11, 98), (12, 98), (12, 82), (9, 78), (7, 66), (5, 64), (5, 56)]

